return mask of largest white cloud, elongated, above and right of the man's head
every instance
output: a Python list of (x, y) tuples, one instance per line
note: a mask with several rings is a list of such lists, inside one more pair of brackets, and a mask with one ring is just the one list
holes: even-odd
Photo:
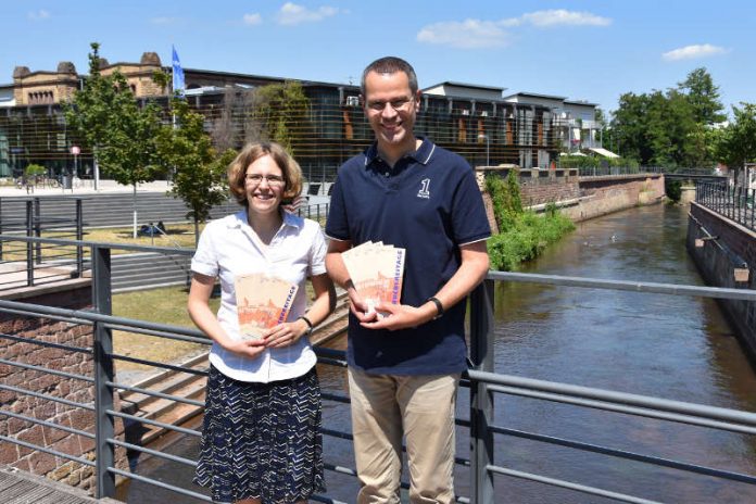
[(608, 26), (612, 20), (590, 12), (560, 10), (537, 11), (519, 17), (499, 21), (465, 20), (445, 21), (424, 26), (417, 33), (419, 42), (438, 43), (461, 49), (480, 49), (508, 46), (513, 39), (511, 28), (522, 25), (549, 28), (559, 25)]

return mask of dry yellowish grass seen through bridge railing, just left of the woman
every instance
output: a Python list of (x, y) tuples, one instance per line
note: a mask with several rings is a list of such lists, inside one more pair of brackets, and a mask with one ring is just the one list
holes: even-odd
[[(187, 289), (167, 287), (161, 289), (125, 292), (113, 295), (113, 315), (136, 318), (179, 327), (194, 327), (187, 314)], [(217, 312), (220, 300), (212, 298), (210, 306)], [(115, 353), (163, 363), (175, 363), (196, 355), (207, 345), (174, 341), (138, 332), (113, 331)], [(118, 370), (156, 370), (151, 366), (119, 361)]]

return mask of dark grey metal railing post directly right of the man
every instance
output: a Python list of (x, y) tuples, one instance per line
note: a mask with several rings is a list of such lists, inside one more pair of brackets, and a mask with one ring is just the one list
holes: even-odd
[[(472, 369), (493, 373), (493, 280), (470, 294), (470, 360)], [(470, 502), (493, 504), (493, 394), (488, 385), (470, 379)]]

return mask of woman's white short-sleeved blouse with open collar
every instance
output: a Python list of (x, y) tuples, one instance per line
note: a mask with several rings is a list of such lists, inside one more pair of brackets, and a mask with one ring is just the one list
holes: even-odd
[[(326, 241), (320, 226), (288, 212), (284, 224), (265, 247), (247, 222), (242, 210), (213, 220), (202, 231), (191, 261), (191, 270), (220, 278), (220, 307), (217, 317), (230, 338), (239, 338), (234, 278), (266, 273), (299, 286), (287, 322), (295, 320), (307, 307), (305, 280), (326, 273)], [(316, 363), (308, 338), (281, 349), (266, 349), (255, 358), (229, 352), (213, 342), (210, 362), (224, 375), (240, 381), (267, 383), (306, 374)]]

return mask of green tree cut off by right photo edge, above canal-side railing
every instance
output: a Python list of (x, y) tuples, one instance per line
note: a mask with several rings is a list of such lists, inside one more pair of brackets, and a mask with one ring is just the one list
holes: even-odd
[(733, 122), (718, 135), (716, 153), (719, 161), (733, 169), (738, 180), (745, 163), (756, 161), (756, 104), (733, 105), (732, 115)]

